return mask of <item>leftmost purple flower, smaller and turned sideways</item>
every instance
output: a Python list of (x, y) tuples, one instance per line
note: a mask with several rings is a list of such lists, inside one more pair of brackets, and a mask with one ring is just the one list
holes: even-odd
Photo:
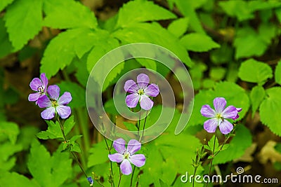
[(36, 104), (39, 97), (45, 95), (48, 85), (48, 78), (46, 78), (45, 74), (41, 74), (40, 78), (41, 79), (33, 78), (32, 81), (30, 82), (30, 88), (36, 92), (30, 94), (28, 96), (28, 100), (30, 102), (35, 102)]

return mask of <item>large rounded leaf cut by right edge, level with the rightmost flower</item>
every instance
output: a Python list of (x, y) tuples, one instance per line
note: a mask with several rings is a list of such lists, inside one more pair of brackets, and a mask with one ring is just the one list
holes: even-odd
[(261, 123), (268, 126), (269, 129), (278, 136), (281, 136), (281, 88), (273, 87), (266, 90), (266, 99), (263, 100), (259, 107)]

